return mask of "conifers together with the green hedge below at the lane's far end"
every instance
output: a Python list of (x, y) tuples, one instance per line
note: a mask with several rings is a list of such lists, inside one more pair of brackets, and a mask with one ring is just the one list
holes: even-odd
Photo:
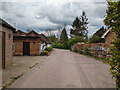
[(64, 27), (61, 35), (60, 41), (53, 43), (53, 48), (59, 49), (71, 49), (71, 46), (78, 42), (86, 42), (88, 39), (87, 30), (88, 18), (86, 17), (85, 11), (82, 12), (80, 17), (76, 17), (72, 24), (72, 29), (70, 30), (71, 38), (68, 39), (66, 28)]

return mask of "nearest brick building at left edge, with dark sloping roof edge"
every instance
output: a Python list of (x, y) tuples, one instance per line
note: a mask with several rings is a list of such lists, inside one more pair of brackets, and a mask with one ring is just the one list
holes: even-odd
[(0, 18), (0, 69), (5, 69), (12, 65), (12, 44), (15, 30), (14, 27)]

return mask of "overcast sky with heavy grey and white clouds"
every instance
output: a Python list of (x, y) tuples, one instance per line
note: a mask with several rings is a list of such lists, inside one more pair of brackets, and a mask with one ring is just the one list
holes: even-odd
[(39, 33), (41, 33), (41, 29), (57, 30), (59, 26), (63, 27), (66, 24), (69, 34), (73, 20), (84, 10), (89, 19), (89, 36), (104, 26), (103, 20), (107, 7), (105, 2), (64, 2), (62, 0), (6, 1), (0, 5), (2, 6), (0, 8), (1, 18), (17, 29), (23, 31), (33, 29)]

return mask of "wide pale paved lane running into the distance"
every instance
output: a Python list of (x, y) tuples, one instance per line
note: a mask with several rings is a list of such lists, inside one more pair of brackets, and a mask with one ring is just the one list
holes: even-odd
[(44, 62), (9, 88), (114, 88), (109, 65), (68, 50), (54, 49)]

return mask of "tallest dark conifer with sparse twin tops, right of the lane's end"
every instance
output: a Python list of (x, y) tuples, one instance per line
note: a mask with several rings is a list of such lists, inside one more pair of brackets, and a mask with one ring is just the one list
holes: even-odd
[(88, 18), (86, 17), (85, 11), (82, 12), (82, 15), (80, 17), (76, 17), (75, 20), (73, 21), (72, 27), (70, 34), (71, 37), (75, 36), (83, 36), (87, 38), (88, 30), (87, 30), (87, 24), (88, 24)]

